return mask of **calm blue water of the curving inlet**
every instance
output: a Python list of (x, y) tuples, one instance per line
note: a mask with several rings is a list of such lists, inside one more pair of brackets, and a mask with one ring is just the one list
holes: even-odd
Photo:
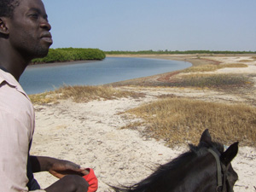
[(27, 67), (20, 84), (27, 94), (55, 90), (64, 84), (97, 85), (146, 77), (190, 67), (189, 62), (145, 58), (113, 58), (79, 64)]

